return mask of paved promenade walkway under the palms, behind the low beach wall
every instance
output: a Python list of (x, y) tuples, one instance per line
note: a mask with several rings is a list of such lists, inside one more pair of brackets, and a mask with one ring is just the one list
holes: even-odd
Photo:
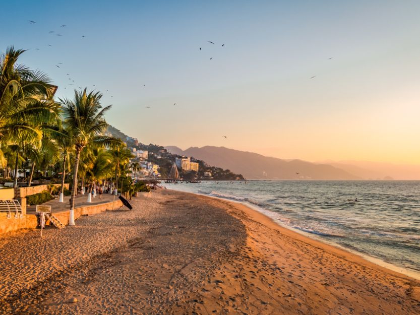
[[(113, 197), (111, 194), (102, 194), (102, 199), (99, 199), (99, 195), (97, 195), (96, 198), (92, 198), (92, 202), (88, 203), (88, 195), (78, 195), (75, 199), (75, 208), (81, 208), (86, 206), (94, 206), (94, 205), (100, 205), (105, 203), (110, 203), (113, 200)], [(119, 200), (117, 196), (115, 196), (115, 201)], [(42, 205), (51, 206), (51, 213), (59, 213), (59, 212), (65, 212), (70, 210), (70, 196), (64, 197), (64, 202), (58, 202), (57, 199), (50, 200), (46, 203), (43, 203)], [(118, 206), (119, 207), (119, 206)], [(27, 214), (35, 214), (36, 206), (28, 206), (26, 209)]]

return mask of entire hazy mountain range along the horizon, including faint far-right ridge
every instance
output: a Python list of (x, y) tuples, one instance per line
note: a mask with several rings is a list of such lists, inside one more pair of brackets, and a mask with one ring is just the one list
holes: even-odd
[(241, 173), (248, 179), (420, 179), (419, 165), (396, 165), (368, 161), (284, 160), (225, 147), (205, 146), (182, 150), (165, 147), (169, 152), (192, 156), (208, 164)]

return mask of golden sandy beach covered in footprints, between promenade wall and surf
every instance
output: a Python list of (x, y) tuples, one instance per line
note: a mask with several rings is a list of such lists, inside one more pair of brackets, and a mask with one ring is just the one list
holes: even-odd
[(132, 203), (2, 236), (0, 314), (420, 314), (419, 281), (243, 205), (169, 190)]

